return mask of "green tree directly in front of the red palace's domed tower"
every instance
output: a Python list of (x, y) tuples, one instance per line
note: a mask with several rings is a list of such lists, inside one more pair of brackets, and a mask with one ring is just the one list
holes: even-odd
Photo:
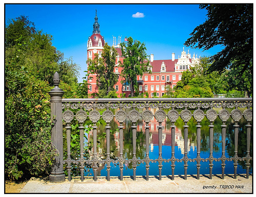
[(88, 60), (88, 71), (97, 75), (96, 83), (99, 88), (99, 97), (108, 95), (114, 91), (114, 85), (118, 81), (118, 75), (114, 73), (117, 51), (114, 46), (105, 43), (101, 57), (95, 54), (93, 60)]

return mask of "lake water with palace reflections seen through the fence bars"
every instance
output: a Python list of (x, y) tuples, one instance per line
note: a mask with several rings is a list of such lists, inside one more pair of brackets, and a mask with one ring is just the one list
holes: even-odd
[[(231, 110), (230, 110), (231, 111)], [(154, 112), (153, 112), (154, 113)], [(180, 113), (180, 112), (179, 112)], [(167, 114), (167, 113), (166, 113)], [(245, 157), (246, 156), (246, 127), (245, 125), (247, 122), (242, 118), (238, 125), (239, 125), (239, 141), (238, 141), (238, 156)], [(162, 124), (163, 128), (163, 135), (162, 135), (162, 158), (169, 159), (172, 156), (172, 137), (170, 131), (171, 122), (166, 118), (166, 120)], [(196, 120), (192, 117), (187, 124), (188, 127), (188, 158), (194, 159), (197, 157), (197, 129)], [(201, 158), (208, 158), (209, 157), (209, 121), (205, 117), (201, 124)], [(214, 158), (220, 158), (222, 156), (222, 121), (217, 117), (214, 121)], [(231, 120), (231, 117), (226, 121), (226, 150), (225, 156), (226, 158), (230, 158), (234, 156), (234, 122)], [(105, 126), (106, 124), (102, 122), (101, 125), (98, 126), (98, 147), (97, 153), (100, 153), (103, 157), (105, 156), (106, 152), (106, 140), (104, 137), (105, 133)], [(118, 126), (119, 123), (117, 121), (112, 121), (110, 123), (111, 126), (111, 136), (110, 136), (110, 150), (113, 151), (111, 154), (113, 157), (120, 156), (119, 150), (119, 131)], [(132, 128), (131, 122), (126, 121), (123, 124), (123, 157), (124, 159), (132, 159), (133, 157), (133, 140), (132, 140)], [(143, 159), (146, 156), (146, 144), (145, 144), (145, 123), (141, 119), (137, 121), (137, 133), (136, 133), (136, 157), (137, 159)], [(150, 144), (149, 144), (149, 157), (150, 159), (157, 159), (158, 158), (158, 122), (154, 119), (150, 122)], [(175, 122), (176, 131), (175, 131), (175, 158), (181, 159), (184, 156), (184, 122), (179, 117), (178, 120)], [(252, 131), (251, 131), (252, 133)], [(99, 137), (101, 136), (101, 137)], [(88, 135), (88, 140), (92, 142), (92, 132)], [(250, 142), (250, 156), (252, 156), (252, 142)], [(90, 153), (92, 155), (92, 152)], [(221, 174), (221, 161), (216, 162), (214, 161), (214, 166), (212, 168), (212, 174)], [(239, 165), (237, 168), (238, 174), (246, 174), (246, 165), (245, 161), (238, 161)], [(162, 175), (172, 175), (172, 163), (162, 163)], [(183, 175), (184, 174), (184, 162), (175, 162), (175, 175)], [(187, 174), (189, 175), (196, 175), (197, 174), (197, 162), (188, 162)], [(200, 162), (200, 174), (209, 174), (209, 162)], [(233, 161), (225, 161), (225, 174), (233, 174)], [(133, 175), (133, 167), (132, 163), (124, 164), (123, 167), (123, 176), (132, 176)], [(252, 166), (250, 166), (250, 173), (252, 170)], [(90, 169), (89, 173), (85, 174), (86, 176), (93, 176), (93, 170)], [(106, 176), (107, 170), (106, 166), (101, 165), (97, 169), (97, 176)], [(146, 168), (145, 163), (138, 163), (136, 167), (136, 176), (145, 176), (146, 175)], [(149, 175), (156, 175), (158, 176), (158, 162), (150, 163), (150, 170)], [(110, 168), (110, 176), (120, 176), (120, 169), (119, 165), (114, 165), (111, 163)]]

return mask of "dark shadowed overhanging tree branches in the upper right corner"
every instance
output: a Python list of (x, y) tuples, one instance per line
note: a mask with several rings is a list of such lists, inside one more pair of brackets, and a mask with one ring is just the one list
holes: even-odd
[(190, 34), (186, 46), (208, 50), (223, 45), (221, 52), (211, 56), (209, 71), (241, 67), (252, 75), (253, 4), (206, 4), (207, 19)]

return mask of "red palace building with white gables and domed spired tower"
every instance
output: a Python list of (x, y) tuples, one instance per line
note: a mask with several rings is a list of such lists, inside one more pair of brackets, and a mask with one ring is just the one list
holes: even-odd
[[(119, 65), (119, 61), (122, 63), (124, 57), (122, 56), (121, 48), (120, 48), (121, 37), (118, 37), (118, 44), (116, 45), (115, 37), (113, 38), (113, 45), (117, 50), (116, 57), (116, 67), (114, 72), (120, 76), (122, 68)], [(95, 16), (95, 22), (93, 24), (93, 34), (88, 38), (87, 42), (87, 57), (88, 59), (94, 59), (96, 53), (101, 57), (101, 53), (103, 50), (105, 40), (104, 37), (100, 35), (99, 23), (97, 17), (97, 11)], [(137, 82), (139, 85), (139, 93), (145, 94), (148, 92), (148, 97), (153, 97), (154, 93), (156, 97), (161, 97), (165, 93), (166, 85), (170, 87), (176, 86), (177, 82), (181, 80), (182, 71), (189, 69), (189, 67), (193, 67), (196, 64), (199, 64), (199, 58), (193, 55), (186, 53), (184, 51), (181, 52), (181, 56), (178, 59), (175, 59), (175, 54), (172, 54), (171, 59), (165, 60), (154, 60), (154, 55), (151, 54), (150, 57), (150, 72), (144, 72), (143, 76), (137, 76)], [(88, 94), (93, 97), (94, 93), (98, 92), (98, 87), (96, 85), (96, 75), (90, 74), (88, 79)], [(115, 85), (116, 93), (118, 97), (121, 97), (125, 93), (125, 97), (129, 97), (131, 94), (131, 88), (129, 83), (121, 83), (121, 78), (118, 78), (118, 82)]]

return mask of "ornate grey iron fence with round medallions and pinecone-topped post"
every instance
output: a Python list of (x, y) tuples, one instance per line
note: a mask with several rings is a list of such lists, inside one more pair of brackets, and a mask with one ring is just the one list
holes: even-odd
[[(55, 87), (49, 92), (51, 95), (51, 109), (52, 117), (55, 117), (55, 126), (52, 130), (52, 141), (59, 151), (59, 156), (56, 157), (50, 180), (53, 182), (65, 181), (65, 175), (63, 172), (63, 164), (67, 164), (68, 179), (71, 180), (71, 166), (78, 165), (81, 172), (81, 181), (84, 177), (84, 165), (90, 164), (94, 171), (94, 180), (97, 180), (96, 169), (98, 164), (106, 164), (106, 170), (108, 172), (107, 180), (110, 180), (110, 168), (111, 163), (118, 163), (120, 169), (120, 180), (123, 179), (123, 167), (125, 163), (132, 163), (133, 166), (133, 180), (136, 180), (136, 167), (138, 163), (145, 163), (146, 168), (146, 180), (148, 180), (148, 171), (150, 168), (150, 162), (158, 162), (159, 180), (161, 180), (161, 170), (163, 162), (170, 162), (172, 168), (172, 180), (174, 180), (175, 162), (184, 162), (184, 179), (187, 179), (187, 166), (188, 161), (197, 162), (197, 179), (200, 179), (200, 166), (201, 162), (209, 162), (209, 178), (212, 178), (212, 166), (214, 161), (221, 161), (222, 167), (222, 179), (224, 179), (225, 161), (233, 161), (234, 166), (234, 179), (237, 178), (237, 166), (238, 161), (246, 162), (246, 178), (249, 176), (250, 160), (250, 132), (252, 122), (252, 99), (251, 98), (202, 98), (202, 99), (62, 99), (63, 91), (58, 88), (59, 77), (57, 73), (54, 76)], [(227, 108), (232, 109), (229, 113)], [(125, 109), (130, 109), (129, 113), (125, 112)], [(139, 112), (139, 110), (142, 112)], [(156, 109), (155, 114), (150, 109)], [(217, 110), (218, 109), (218, 110)], [(243, 110), (242, 110), (243, 109)], [(115, 114), (113, 113), (115, 110)], [(63, 112), (62, 112), (63, 111)], [(99, 111), (103, 111), (102, 114)], [(191, 113), (191, 111), (193, 113)], [(205, 113), (206, 111), (206, 113)], [(180, 113), (179, 113), (180, 112)], [(201, 147), (201, 121), (206, 116), (209, 120), (209, 157), (200, 157)], [(214, 121), (219, 116), (222, 121), (222, 156), (220, 158), (214, 158), (213, 152), (213, 139), (214, 139)], [(238, 121), (244, 116), (247, 121), (247, 151), (244, 157), (238, 157), (238, 133), (239, 125)], [(80, 131), (80, 158), (71, 158), (70, 152), (70, 130), (71, 122), (73, 118), (79, 122)], [(137, 121), (142, 118), (145, 122), (145, 141), (146, 141), (146, 155), (144, 159), (138, 159), (136, 157), (136, 131)], [(183, 133), (184, 133), (184, 156), (183, 158), (175, 157), (175, 122), (181, 117), (184, 121)], [(234, 154), (231, 158), (225, 157), (225, 138), (226, 138), (226, 121), (229, 118), (234, 121)], [(93, 124), (93, 157), (89, 160), (84, 159), (84, 127), (83, 123), (87, 119), (90, 119)], [(97, 121), (102, 118), (106, 122), (106, 159), (100, 160), (97, 153)], [(150, 126), (149, 122), (152, 119), (156, 119), (158, 122), (158, 139), (159, 139), (159, 156), (157, 159), (151, 159), (149, 157), (149, 139), (150, 139)], [(172, 153), (170, 158), (162, 158), (162, 123), (168, 118), (171, 122), (170, 132), (172, 136)], [(194, 118), (197, 121), (197, 157), (188, 158), (187, 156), (187, 144), (188, 144), (188, 125), (187, 122)], [(63, 161), (63, 134), (62, 134), (62, 119), (65, 121), (66, 134), (67, 134), (67, 159)], [(119, 127), (119, 144), (120, 155), (117, 160), (113, 160), (110, 157), (110, 122), (115, 119), (118, 121)], [(133, 132), (133, 157), (132, 159), (124, 159), (123, 157), (123, 124), (125, 121), (130, 120), (132, 122)]]

